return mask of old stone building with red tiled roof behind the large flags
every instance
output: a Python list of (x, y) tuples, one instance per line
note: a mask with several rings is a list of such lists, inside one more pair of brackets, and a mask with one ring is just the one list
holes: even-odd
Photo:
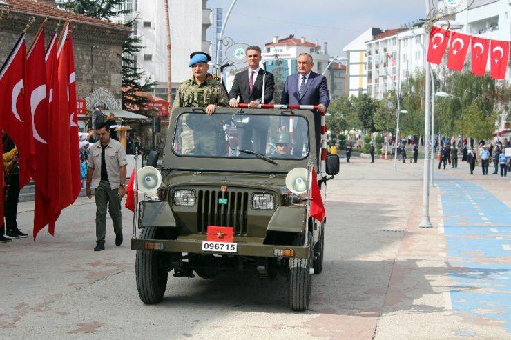
[[(35, 37), (39, 26), (48, 17), (45, 25), (45, 41), (49, 43), (53, 32), (68, 17), (68, 12), (55, 10), (55, 1), (6, 0), (8, 14), (0, 20), (0, 59), (5, 61), (15, 46), (30, 17), (34, 17), (26, 34), (27, 49)], [(69, 14), (74, 21), (73, 52), (75, 54), (75, 74), (77, 99), (86, 100), (86, 109), (92, 110), (98, 101), (103, 101), (112, 110), (121, 108), (122, 45), (130, 34), (130, 29), (117, 23), (110, 23)], [(58, 30), (60, 32), (60, 30)]]

